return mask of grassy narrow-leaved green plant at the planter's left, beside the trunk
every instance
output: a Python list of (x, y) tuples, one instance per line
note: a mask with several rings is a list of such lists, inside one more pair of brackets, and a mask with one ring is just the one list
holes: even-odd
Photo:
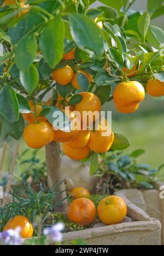
[[(25, 184), (26, 193), (16, 195), (12, 193), (13, 202), (0, 208), (0, 231), (9, 219), (17, 215), (26, 216), (36, 227), (36, 235), (40, 234), (46, 218), (50, 212), (62, 201), (57, 200), (58, 187), (60, 184), (55, 184), (54, 188), (45, 193), (45, 186), (40, 184), (38, 193), (31, 188), (30, 184)], [(62, 192), (61, 192), (62, 193)]]

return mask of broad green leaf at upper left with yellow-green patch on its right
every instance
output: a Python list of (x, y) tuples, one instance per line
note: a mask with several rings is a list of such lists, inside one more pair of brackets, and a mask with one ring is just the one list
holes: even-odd
[(35, 34), (22, 38), (15, 50), (15, 63), (17, 68), (26, 71), (36, 56), (37, 42)]

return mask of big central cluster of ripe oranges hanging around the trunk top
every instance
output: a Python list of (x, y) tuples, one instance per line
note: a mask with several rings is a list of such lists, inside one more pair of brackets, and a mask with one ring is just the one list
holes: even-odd
[[(42, 112), (42, 106), (40, 104), (34, 104), (33, 101), (30, 101), (31, 111), (33, 113), (23, 114), (24, 119), (29, 123), (24, 130), (24, 140), (27, 145), (31, 148), (37, 149), (42, 148), (52, 142), (62, 143), (63, 152), (74, 160), (82, 160), (87, 158), (90, 155), (91, 150), (96, 153), (105, 153), (107, 152), (114, 141), (114, 134), (110, 132), (110, 126), (106, 119), (102, 120), (96, 127), (96, 130), (89, 130), (90, 120), (86, 117), (84, 119), (83, 113), (91, 112), (96, 113), (92, 115), (92, 122), (96, 121), (96, 118), (99, 118), (99, 113), (101, 111), (101, 102), (99, 98), (91, 94), (90, 92), (81, 92), (80, 95), (83, 97), (81, 102), (75, 105), (75, 112), (69, 109), (68, 118), (73, 121), (77, 120), (77, 129), (73, 129), (69, 132), (54, 130), (52, 125), (46, 120), (45, 117), (39, 117), (39, 114)], [(58, 99), (62, 100), (62, 97), (58, 95)], [(50, 104), (51, 99), (47, 102)], [(69, 99), (67, 98), (69, 102)], [(56, 105), (60, 107), (63, 112), (63, 105), (57, 101)], [(34, 111), (36, 110), (36, 115)], [(75, 115), (75, 113), (79, 113)], [(78, 118), (77, 118), (78, 117)], [(85, 122), (86, 121), (86, 122)], [(103, 124), (102, 124), (103, 123)], [(104, 126), (103, 126), (104, 125)], [(85, 129), (83, 129), (85, 127)], [(103, 136), (104, 132), (108, 132), (107, 136)]]

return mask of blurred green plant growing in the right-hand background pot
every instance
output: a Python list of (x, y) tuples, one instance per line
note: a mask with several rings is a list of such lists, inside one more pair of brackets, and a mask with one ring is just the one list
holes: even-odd
[(155, 181), (164, 181), (163, 165), (153, 169), (138, 163), (137, 158), (144, 152), (138, 149), (126, 155), (122, 152), (108, 153), (96, 172), (97, 192), (113, 194), (122, 188), (153, 189)]

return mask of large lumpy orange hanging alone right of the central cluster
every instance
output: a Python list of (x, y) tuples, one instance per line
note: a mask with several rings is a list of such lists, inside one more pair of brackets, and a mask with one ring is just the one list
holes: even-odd
[(145, 90), (139, 82), (131, 81), (118, 84), (114, 90), (113, 99), (116, 109), (121, 113), (132, 113), (138, 104), (144, 100)]

